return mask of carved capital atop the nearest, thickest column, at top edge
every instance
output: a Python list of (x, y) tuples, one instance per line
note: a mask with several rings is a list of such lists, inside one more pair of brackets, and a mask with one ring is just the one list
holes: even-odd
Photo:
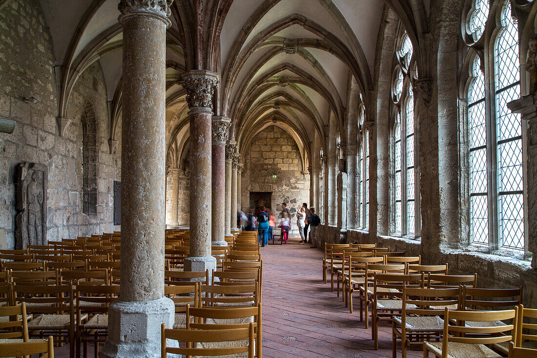
[(170, 6), (173, 0), (120, 0), (118, 10), (121, 12), (118, 20), (124, 24), (125, 20), (134, 15), (150, 16), (162, 20), (166, 27), (170, 27)]

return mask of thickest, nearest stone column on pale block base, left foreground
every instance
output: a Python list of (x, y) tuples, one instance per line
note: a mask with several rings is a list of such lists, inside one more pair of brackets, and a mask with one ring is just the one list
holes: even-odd
[[(171, 3), (171, 2), (169, 2)], [(121, 295), (110, 305), (100, 357), (159, 357), (164, 297), (165, 80), (167, 2), (122, 0)]]

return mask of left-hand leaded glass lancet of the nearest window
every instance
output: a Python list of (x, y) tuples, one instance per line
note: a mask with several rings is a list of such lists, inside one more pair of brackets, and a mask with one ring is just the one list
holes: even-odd
[(485, 121), (485, 78), (476, 56), (474, 80), (468, 89), (468, 128), (470, 143), (470, 240), (489, 244), (487, 183), (487, 128)]

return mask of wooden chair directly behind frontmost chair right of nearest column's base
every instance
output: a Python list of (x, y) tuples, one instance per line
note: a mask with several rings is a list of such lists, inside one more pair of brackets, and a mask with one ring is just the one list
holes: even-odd
[[(254, 307), (201, 307), (186, 309), (187, 330), (221, 330), (226, 328), (246, 328), (253, 325), (256, 341), (256, 357), (262, 358), (262, 309), (261, 304)], [(194, 323), (191, 323), (193, 321)], [(209, 347), (215, 345), (209, 345)]]

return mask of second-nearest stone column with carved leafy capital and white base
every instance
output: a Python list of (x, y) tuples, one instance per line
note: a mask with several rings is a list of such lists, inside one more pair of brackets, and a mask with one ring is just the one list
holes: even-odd
[(183, 75), (190, 117), (190, 255), (185, 271), (216, 270), (211, 256), (212, 216), (212, 97), (218, 75), (191, 70)]

